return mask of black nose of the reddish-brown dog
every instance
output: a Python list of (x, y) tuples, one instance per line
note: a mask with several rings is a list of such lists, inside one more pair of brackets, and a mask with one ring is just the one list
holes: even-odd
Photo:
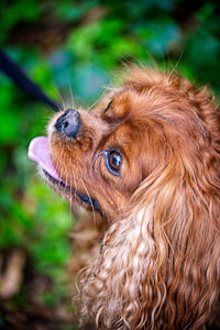
[(80, 129), (80, 116), (78, 111), (75, 109), (66, 110), (57, 119), (55, 129), (67, 138), (76, 139)]

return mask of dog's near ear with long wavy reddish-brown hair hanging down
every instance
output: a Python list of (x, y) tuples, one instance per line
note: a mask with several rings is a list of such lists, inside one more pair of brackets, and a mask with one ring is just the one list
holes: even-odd
[(107, 329), (152, 329), (163, 318), (184, 329), (210, 315), (220, 284), (219, 197), (186, 166), (173, 158), (141, 184), (84, 279), (85, 302)]

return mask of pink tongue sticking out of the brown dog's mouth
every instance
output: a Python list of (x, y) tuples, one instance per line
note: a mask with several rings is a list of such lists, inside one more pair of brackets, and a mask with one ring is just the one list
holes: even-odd
[(55, 179), (61, 180), (50, 155), (48, 139), (37, 136), (33, 139), (29, 146), (29, 158), (40, 164)]

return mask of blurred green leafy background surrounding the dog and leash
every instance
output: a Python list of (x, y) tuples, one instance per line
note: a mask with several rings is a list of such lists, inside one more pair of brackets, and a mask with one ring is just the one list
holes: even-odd
[[(176, 68), (218, 95), (220, 2), (1, 0), (0, 47), (65, 107), (91, 106), (132, 62)], [(0, 72), (0, 329), (77, 329), (75, 220), (26, 156), (52, 114)]]

